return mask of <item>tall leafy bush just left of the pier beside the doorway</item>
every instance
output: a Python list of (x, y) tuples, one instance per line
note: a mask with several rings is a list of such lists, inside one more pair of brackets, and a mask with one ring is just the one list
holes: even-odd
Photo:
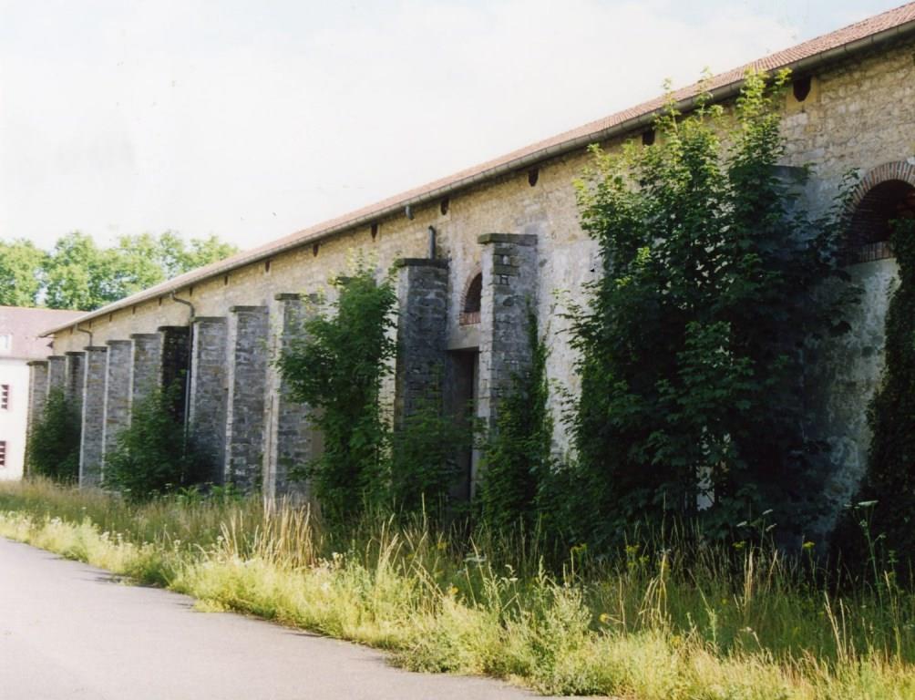
[(310, 479), (325, 517), (347, 522), (387, 495), (391, 429), (379, 398), (396, 352), (397, 296), (364, 262), (332, 284), (336, 300), (304, 323), (279, 369), (324, 436), (323, 453), (296, 475)]

